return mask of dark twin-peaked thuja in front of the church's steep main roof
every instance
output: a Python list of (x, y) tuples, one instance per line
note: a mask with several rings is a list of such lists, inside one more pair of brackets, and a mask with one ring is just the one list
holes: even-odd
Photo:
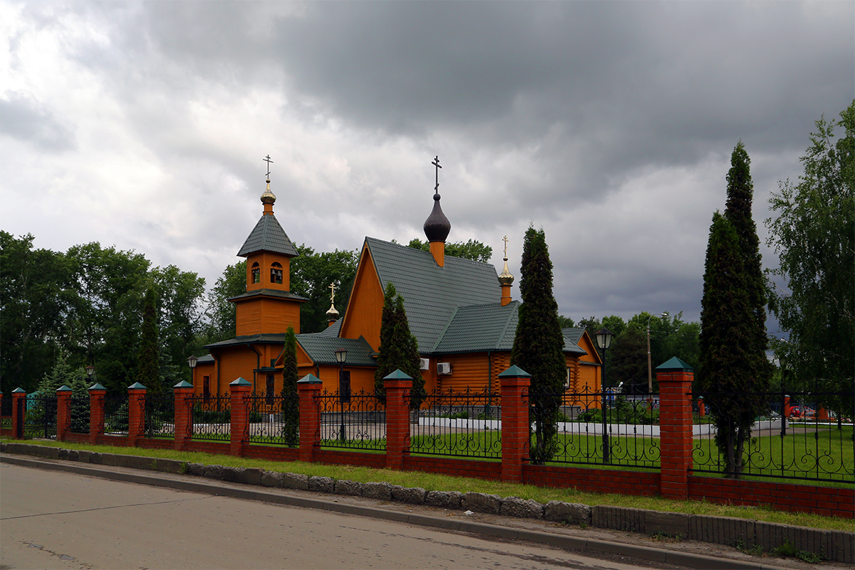
[(413, 379), (410, 390), (410, 408), (418, 408), (425, 398), (425, 381), (419, 366), (419, 347), (410, 332), (410, 322), (404, 310), (404, 297), (395, 291), (395, 285), (386, 285), (383, 294), (383, 313), (380, 317), (380, 349), (377, 350), (377, 371), (374, 373), (374, 391), (386, 402), (383, 379), (400, 370)]

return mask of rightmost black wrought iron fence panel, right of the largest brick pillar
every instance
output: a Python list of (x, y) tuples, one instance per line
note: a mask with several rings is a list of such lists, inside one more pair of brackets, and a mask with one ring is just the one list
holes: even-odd
[(694, 473), (855, 483), (852, 392), (694, 397), (704, 408), (694, 426)]

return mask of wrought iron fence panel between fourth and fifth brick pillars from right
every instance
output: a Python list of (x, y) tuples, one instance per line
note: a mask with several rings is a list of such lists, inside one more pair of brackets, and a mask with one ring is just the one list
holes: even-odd
[(295, 394), (253, 394), (245, 399), (249, 422), (244, 441), (297, 447), (300, 400)]

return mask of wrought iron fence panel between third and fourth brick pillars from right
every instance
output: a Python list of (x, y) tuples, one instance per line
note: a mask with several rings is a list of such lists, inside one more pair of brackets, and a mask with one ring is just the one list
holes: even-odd
[(386, 406), (372, 392), (323, 391), (321, 447), (351, 450), (386, 450)]

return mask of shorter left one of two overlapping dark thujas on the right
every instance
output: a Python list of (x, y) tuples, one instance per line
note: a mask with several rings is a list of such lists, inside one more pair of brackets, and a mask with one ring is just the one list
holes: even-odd
[(754, 310), (746, 286), (740, 238), (733, 224), (716, 212), (706, 250), (704, 296), (701, 300), (700, 367), (696, 377), (716, 423), (716, 444), (728, 476), (739, 477), (742, 453), (762, 397), (749, 393), (746, 355), (755, 339), (746, 331)]

